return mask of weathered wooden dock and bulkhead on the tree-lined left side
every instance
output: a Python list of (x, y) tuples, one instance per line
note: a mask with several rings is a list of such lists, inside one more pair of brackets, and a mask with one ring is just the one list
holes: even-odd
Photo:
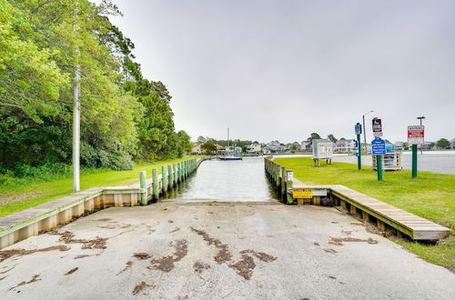
[(111, 206), (147, 205), (165, 195), (197, 170), (202, 159), (190, 159), (141, 175), (141, 183), (128, 186), (94, 187), (0, 218), (0, 249), (40, 232), (66, 224), (73, 218)]

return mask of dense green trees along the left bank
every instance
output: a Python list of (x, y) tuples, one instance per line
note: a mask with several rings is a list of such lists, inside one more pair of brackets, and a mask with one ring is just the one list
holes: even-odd
[(127, 169), (190, 150), (166, 86), (143, 77), (109, 15), (121, 15), (109, 1), (0, 0), (0, 172), (71, 162), (76, 65), (83, 165)]

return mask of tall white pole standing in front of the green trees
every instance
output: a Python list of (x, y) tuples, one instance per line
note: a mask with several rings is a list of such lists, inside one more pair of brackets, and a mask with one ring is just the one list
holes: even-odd
[[(79, 13), (78, 3), (76, 2), (76, 19)], [(77, 24), (75, 31), (77, 31)], [(76, 48), (76, 59), (79, 56), (79, 48)], [(80, 190), (80, 104), (79, 104), (79, 90), (80, 90), (80, 69), (79, 62), (76, 61), (75, 66), (75, 100), (73, 107), (73, 191)]]

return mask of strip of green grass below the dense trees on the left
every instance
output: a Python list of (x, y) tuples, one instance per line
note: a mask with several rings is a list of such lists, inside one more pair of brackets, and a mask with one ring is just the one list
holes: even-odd
[[(148, 178), (152, 176), (153, 168), (157, 168), (158, 173), (161, 173), (161, 165), (177, 163), (187, 158), (136, 165), (133, 170), (127, 171), (82, 170), (81, 190), (96, 186), (131, 185), (139, 181), (139, 171), (146, 171)], [(47, 180), (0, 175), (0, 217), (71, 194), (73, 194), (71, 175), (54, 177), (50, 175)]]

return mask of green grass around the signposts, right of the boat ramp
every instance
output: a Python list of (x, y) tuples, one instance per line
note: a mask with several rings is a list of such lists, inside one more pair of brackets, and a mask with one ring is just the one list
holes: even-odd
[[(402, 170), (383, 173), (383, 181), (379, 182), (371, 166), (364, 165), (361, 171), (355, 164), (337, 162), (315, 167), (311, 157), (276, 158), (274, 161), (294, 170), (294, 176), (305, 184), (346, 185), (449, 227), (452, 232), (455, 230), (455, 175), (419, 172), (417, 178), (411, 178), (410, 171)], [(455, 271), (455, 235), (438, 245), (392, 239), (431, 263)]]

